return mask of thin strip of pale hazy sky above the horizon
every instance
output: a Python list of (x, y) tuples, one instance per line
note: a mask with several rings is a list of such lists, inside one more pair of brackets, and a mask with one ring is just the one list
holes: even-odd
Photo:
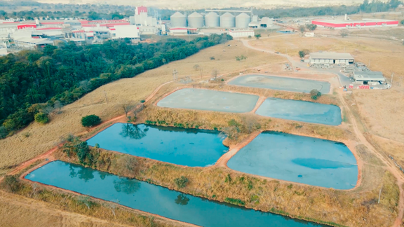
[(42, 3), (62, 4), (114, 4), (131, 6), (158, 6), (160, 8), (197, 9), (224, 7), (260, 7), (276, 6), (330, 6), (361, 4), (363, 0), (37, 0)]

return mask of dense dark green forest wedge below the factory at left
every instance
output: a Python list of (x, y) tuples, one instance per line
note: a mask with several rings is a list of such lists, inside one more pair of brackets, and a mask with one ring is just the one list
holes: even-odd
[(23, 50), (0, 57), (0, 138), (34, 121), (39, 113), (72, 103), (87, 92), (119, 78), (130, 78), (168, 62), (230, 40), (213, 34), (185, 41), (129, 40), (76, 46), (73, 42)]

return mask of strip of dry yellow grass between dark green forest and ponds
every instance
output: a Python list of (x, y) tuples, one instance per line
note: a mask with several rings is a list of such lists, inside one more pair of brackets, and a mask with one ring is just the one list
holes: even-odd
[[(231, 46), (227, 46), (227, 44)], [(2, 168), (29, 160), (52, 148), (58, 143), (60, 137), (85, 130), (80, 124), (83, 116), (96, 114), (105, 121), (124, 114), (120, 106), (121, 103), (126, 102), (126, 100), (139, 102), (141, 99), (145, 99), (159, 85), (173, 79), (174, 69), (177, 69), (179, 77), (197, 76), (200, 75), (200, 72), (195, 71), (193, 67), (198, 64), (210, 78), (213, 69), (218, 69), (219, 73), (222, 74), (257, 67), (269, 62), (283, 61), (281, 57), (276, 55), (268, 55), (245, 48), (237, 41), (230, 41), (227, 44), (201, 50), (200, 53), (187, 59), (171, 62), (158, 69), (144, 72), (135, 78), (125, 78), (104, 85), (77, 102), (65, 106), (62, 109), (62, 114), (53, 114), (47, 125), (32, 123), (17, 135), (0, 140), (0, 174), (8, 171), (1, 170)], [(236, 55), (245, 55), (248, 58), (237, 62)], [(212, 56), (215, 57), (215, 60), (210, 60)], [(108, 103), (105, 102), (105, 92)], [(23, 136), (27, 133), (29, 133), (29, 137)]]

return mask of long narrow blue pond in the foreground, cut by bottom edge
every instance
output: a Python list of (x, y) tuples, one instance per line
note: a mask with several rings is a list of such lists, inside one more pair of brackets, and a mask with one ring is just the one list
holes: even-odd
[(62, 161), (44, 165), (28, 174), (25, 179), (198, 226), (321, 226), (227, 203), (213, 202), (144, 181), (117, 177), (107, 172)]

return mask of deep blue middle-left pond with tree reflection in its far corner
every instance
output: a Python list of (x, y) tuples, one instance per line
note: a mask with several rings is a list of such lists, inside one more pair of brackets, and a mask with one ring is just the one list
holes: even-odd
[(228, 151), (219, 132), (116, 123), (87, 141), (100, 148), (166, 163), (204, 167)]

